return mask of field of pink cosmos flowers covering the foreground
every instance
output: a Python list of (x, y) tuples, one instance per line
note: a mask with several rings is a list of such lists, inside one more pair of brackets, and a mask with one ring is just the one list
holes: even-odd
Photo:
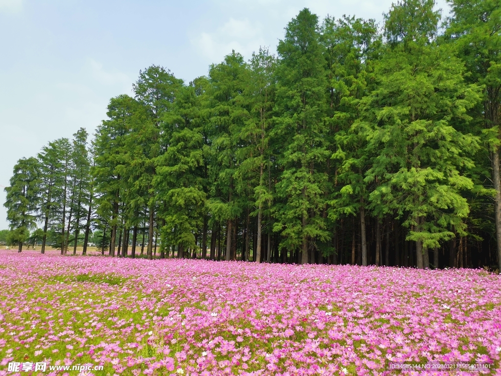
[(399, 374), (389, 365), (405, 361), (499, 375), (500, 351), (501, 277), (480, 270), (0, 251), (0, 375), (11, 361), (103, 376)]

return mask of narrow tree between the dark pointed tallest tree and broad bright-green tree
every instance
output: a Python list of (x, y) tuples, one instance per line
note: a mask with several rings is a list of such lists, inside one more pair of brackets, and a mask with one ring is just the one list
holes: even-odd
[(325, 20), (322, 42), (328, 67), (327, 121), (333, 152), (329, 218), (338, 221), (347, 215), (359, 216), (362, 265), (367, 265), (367, 142), (356, 120), (360, 117), (360, 100), (374, 89), (373, 64), (381, 40), (373, 20), (343, 17)]

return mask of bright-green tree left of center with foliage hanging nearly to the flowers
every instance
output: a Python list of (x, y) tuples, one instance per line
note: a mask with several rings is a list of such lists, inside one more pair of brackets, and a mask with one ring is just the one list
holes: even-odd
[[(162, 242), (196, 249), (195, 236), (203, 225), (203, 135), (199, 98), (195, 85), (178, 90), (171, 110), (164, 116), (162, 136), (166, 147), (158, 157), (154, 179), (157, 198), (166, 203), (159, 208), (164, 221)], [(202, 244), (202, 247), (204, 245)]]

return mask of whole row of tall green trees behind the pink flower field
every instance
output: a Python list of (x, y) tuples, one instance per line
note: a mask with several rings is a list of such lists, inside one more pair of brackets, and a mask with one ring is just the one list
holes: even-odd
[[(374, 20), (304, 9), (278, 56), (188, 84), (140, 71), (94, 139), (21, 159), (13, 239), (84, 253), (427, 267), (501, 264), (501, 12), (404, 0)], [(80, 240), (79, 240), (80, 239)]]

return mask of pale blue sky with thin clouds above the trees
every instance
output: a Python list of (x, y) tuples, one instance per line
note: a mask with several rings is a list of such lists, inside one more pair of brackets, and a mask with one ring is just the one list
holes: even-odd
[[(111, 97), (131, 94), (139, 70), (169, 68), (186, 82), (234, 49), (275, 51), (307, 7), (382, 21), (391, 0), (0, 0), (0, 229), (3, 187), (21, 157), (80, 127), (93, 133)], [(445, 0), (438, 6), (446, 9)]]

